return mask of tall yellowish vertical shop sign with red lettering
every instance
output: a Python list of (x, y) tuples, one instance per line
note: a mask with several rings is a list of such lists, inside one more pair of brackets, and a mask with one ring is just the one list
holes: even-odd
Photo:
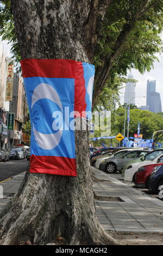
[(14, 64), (11, 59), (8, 59), (5, 101), (12, 101), (13, 80), (14, 80)]

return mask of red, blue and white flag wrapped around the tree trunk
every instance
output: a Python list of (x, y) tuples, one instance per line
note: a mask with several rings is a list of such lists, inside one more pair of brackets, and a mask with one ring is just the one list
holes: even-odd
[(74, 122), (91, 118), (94, 66), (66, 59), (25, 59), (21, 66), (32, 125), (30, 173), (77, 176)]

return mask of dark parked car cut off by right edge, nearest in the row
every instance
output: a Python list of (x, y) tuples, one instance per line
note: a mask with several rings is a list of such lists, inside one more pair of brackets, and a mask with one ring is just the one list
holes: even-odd
[[(163, 157), (162, 157), (163, 161)], [(149, 177), (149, 191), (154, 194), (158, 194), (160, 192), (160, 186), (163, 185), (163, 165), (158, 169), (153, 170), (151, 176)]]

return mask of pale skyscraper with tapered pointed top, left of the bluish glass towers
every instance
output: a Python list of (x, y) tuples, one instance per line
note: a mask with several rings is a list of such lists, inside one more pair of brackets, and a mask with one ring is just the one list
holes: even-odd
[[(133, 79), (133, 75), (130, 73), (128, 79)], [(135, 104), (135, 83), (126, 83), (126, 89), (124, 92), (124, 103)]]

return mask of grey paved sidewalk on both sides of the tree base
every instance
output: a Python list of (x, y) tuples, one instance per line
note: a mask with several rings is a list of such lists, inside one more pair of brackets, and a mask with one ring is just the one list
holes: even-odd
[[(163, 232), (161, 200), (152, 198), (94, 167), (92, 173), (98, 179), (98, 182), (93, 182), (96, 196), (118, 197), (123, 201), (96, 200), (97, 216), (105, 230)], [(0, 189), (0, 210), (17, 192), (24, 174), (25, 172), (0, 183), (0, 188), (3, 187), (3, 198)]]

